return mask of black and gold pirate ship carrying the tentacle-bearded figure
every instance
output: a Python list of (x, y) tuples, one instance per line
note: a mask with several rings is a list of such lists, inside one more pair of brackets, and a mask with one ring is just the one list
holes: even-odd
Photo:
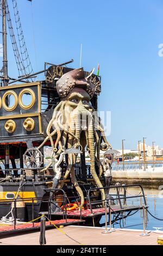
[[(69, 212), (68, 217), (99, 224), (105, 200), (99, 150), (111, 147), (96, 112), (101, 77), (93, 74), (94, 70), (67, 68), (65, 65), (73, 60), (59, 65), (45, 63), (44, 70), (34, 73), (16, 0), (12, 4), (20, 51), (8, 2), (1, 1), (0, 155), (4, 166), (0, 178), (0, 218), (13, 216), (13, 209), (16, 218), (26, 221), (42, 211), (55, 219)], [(17, 79), (8, 75), (7, 21), (20, 75)], [(41, 73), (45, 80), (34, 82)], [(52, 147), (52, 156), (45, 166), (43, 148), (47, 145)], [(90, 154), (90, 166), (86, 166), (85, 150)], [(121, 211), (122, 205), (117, 210)]]

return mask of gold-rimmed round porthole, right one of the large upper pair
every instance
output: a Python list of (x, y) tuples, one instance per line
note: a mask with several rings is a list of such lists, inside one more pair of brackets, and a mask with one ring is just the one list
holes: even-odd
[(18, 95), (18, 103), (23, 109), (30, 109), (35, 103), (35, 94), (32, 89), (23, 89)]

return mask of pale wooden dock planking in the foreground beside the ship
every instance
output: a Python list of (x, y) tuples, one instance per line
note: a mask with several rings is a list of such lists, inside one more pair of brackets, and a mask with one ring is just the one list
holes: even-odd
[[(117, 229), (111, 234), (102, 234), (103, 228), (64, 227), (64, 231), (72, 239), (82, 245), (157, 245), (157, 237), (163, 232), (150, 233), (150, 236), (140, 236), (139, 231)], [(0, 239), (0, 245), (39, 245), (40, 232), (17, 235)], [(57, 229), (46, 230), (47, 245), (79, 245)]]

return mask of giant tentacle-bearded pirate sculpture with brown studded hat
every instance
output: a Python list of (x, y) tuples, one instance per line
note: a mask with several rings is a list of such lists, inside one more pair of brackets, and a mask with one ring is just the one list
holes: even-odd
[[(90, 76), (85, 77), (83, 68), (79, 68), (67, 72), (57, 81), (57, 92), (62, 100), (55, 107), (53, 117), (47, 126), (47, 138), (39, 147), (41, 148), (50, 139), (53, 161), (43, 170), (48, 169), (51, 164), (53, 165), (55, 172), (53, 187), (63, 187), (65, 180), (70, 175), (72, 184), (81, 197), (80, 207), (84, 204), (84, 196), (74, 172), (76, 154), (68, 154), (67, 170), (59, 185), (61, 177), (59, 164), (63, 159), (65, 150), (74, 148), (80, 149), (84, 153), (85, 148), (87, 148), (90, 155), (92, 177), (97, 187), (103, 187), (100, 181), (103, 167), (99, 161), (99, 151), (111, 147), (105, 138), (101, 120), (90, 102), (96, 90), (95, 85), (90, 82)], [(52, 138), (54, 135), (57, 135), (55, 143), (53, 143)], [(99, 174), (96, 172), (95, 163), (99, 168)], [(101, 193), (102, 199), (105, 199), (104, 190), (101, 190)]]

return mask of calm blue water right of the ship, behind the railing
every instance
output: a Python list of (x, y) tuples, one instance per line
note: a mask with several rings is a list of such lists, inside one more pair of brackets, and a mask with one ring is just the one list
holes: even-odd
[[(137, 188), (130, 188), (128, 190), (131, 195), (138, 194), (140, 192), (140, 189)], [(163, 191), (159, 190), (153, 190), (153, 189), (144, 189), (145, 195), (147, 198), (147, 205), (148, 210), (158, 218), (161, 218), (163, 220)], [(110, 193), (111, 194), (111, 193)], [(130, 194), (127, 193), (128, 196)], [(162, 196), (162, 198), (161, 198)], [(130, 198), (127, 199), (127, 204), (130, 205), (141, 205), (143, 203), (143, 198)], [(112, 205), (112, 209), (114, 209), (114, 205)], [(134, 212), (134, 211), (133, 211)], [(131, 214), (133, 213), (131, 212)], [(105, 217), (102, 217), (101, 223), (104, 223)], [(135, 215), (127, 217), (124, 219), (124, 221), (121, 221), (121, 227), (126, 227), (130, 229), (143, 229), (143, 214), (142, 210), (139, 210), (136, 212)], [(137, 225), (140, 224), (140, 225)], [(128, 227), (128, 226), (133, 226), (133, 227)], [(120, 224), (115, 224), (115, 228), (120, 228)], [(163, 231), (163, 221), (158, 221), (155, 220), (151, 215), (148, 214), (148, 223), (147, 223), (147, 230), (155, 230), (153, 227), (159, 227), (162, 228), (161, 230)]]

